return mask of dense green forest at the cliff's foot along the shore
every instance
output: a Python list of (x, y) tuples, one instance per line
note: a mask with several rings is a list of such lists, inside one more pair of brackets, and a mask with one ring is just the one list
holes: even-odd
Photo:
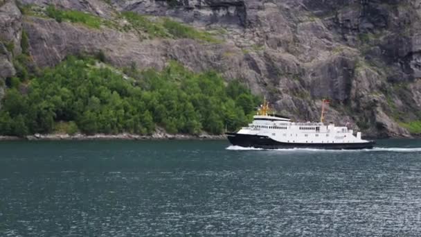
[(2, 135), (151, 134), (156, 126), (172, 134), (221, 134), (247, 125), (261, 100), (237, 80), (226, 83), (214, 71), (193, 73), (174, 61), (162, 71), (118, 70), (71, 56), (36, 73), (19, 71), (6, 80)]

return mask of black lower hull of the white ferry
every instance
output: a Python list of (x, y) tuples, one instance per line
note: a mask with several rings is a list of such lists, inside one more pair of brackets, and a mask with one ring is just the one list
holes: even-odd
[(314, 148), (323, 150), (361, 150), (372, 149), (375, 141), (364, 143), (284, 143), (275, 141), (267, 136), (226, 133), (231, 144), (244, 148), (262, 149), (292, 149), (292, 148)]

